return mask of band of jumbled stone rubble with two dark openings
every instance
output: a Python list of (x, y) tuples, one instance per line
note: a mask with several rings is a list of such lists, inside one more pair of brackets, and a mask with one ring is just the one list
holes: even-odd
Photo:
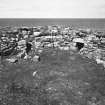
[[(70, 26), (9, 27), (0, 29), (0, 56), (7, 61), (39, 61), (46, 48), (77, 51), (105, 66), (105, 33)], [(15, 57), (14, 57), (15, 56)]]

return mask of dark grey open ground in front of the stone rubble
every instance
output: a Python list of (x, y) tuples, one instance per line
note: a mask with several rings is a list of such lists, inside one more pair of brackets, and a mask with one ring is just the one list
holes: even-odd
[(104, 105), (101, 64), (70, 51), (46, 49), (40, 62), (0, 66), (0, 105)]

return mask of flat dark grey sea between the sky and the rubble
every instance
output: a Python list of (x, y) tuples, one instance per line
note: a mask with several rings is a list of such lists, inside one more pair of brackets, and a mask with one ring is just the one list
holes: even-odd
[(102, 19), (71, 19), (71, 18), (1, 18), (0, 27), (12, 26), (46, 26), (46, 25), (61, 25), (71, 26), (76, 28), (91, 28), (95, 30), (105, 31), (105, 18)]

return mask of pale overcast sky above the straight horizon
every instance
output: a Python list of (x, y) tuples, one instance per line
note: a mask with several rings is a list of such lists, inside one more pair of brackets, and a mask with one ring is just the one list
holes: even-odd
[(105, 0), (0, 0), (0, 18), (105, 18)]

